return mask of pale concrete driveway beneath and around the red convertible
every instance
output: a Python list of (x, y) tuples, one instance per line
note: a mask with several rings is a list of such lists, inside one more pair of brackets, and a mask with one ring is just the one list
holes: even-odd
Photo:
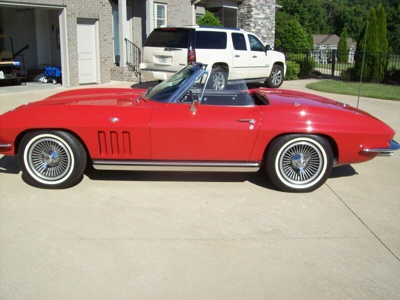
[[(0, 89), (1, 112), (55, 91)], [(400, 102), (360, 108), (400, 133)], [(190, 172), (89, 171), (45, 190), (1, 157), (0, 299), (398, 299), (399, 170), (400, 152), (338, 166), (303, 194)]]

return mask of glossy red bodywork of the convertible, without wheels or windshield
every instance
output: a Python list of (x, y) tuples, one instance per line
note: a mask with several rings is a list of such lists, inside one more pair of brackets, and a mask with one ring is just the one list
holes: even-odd
[(292, 90), (259, 88), (249, 92), (264, 98), (265, 104), (200, 102), (193, 112), (193, 103), (154, 101), (144, 89), (63, 91), (1, 115), (0, 153), (17, 154), (26, 133), (43, 130), (74, 135), (92, 162), (260, 164), (268, 145), (289, 134), (325, 138), (337, 164), (366, 161), (394, 149), (394, 130), (362, 110), (356, 113), (349, 105)]

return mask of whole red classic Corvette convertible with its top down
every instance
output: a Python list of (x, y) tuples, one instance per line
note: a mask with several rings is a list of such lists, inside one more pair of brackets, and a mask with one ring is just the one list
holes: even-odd
[(285, 89), (212, 89), (191, 63), (155, 87), (85, 88), (0, 116), (0, 153), (34, 186), (66, 188), (95, 169), (257, 171), (284, 191), (311, 191), (334, 164), (391, 155), (394, 130), (365, 111)]

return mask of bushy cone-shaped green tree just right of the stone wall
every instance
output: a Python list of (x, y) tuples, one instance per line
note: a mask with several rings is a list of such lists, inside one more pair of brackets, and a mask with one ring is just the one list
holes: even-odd
[(296, 52), (308, 48), (307, 34), (297, 19), (290, 19), (287, 24), (279, 30), (275, 47), (282, 52)]

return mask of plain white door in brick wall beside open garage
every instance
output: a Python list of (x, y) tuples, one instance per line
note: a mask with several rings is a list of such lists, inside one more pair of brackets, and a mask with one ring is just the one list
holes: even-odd
[(78, 20), (79, 84), (98, 83), (96, 21)]

